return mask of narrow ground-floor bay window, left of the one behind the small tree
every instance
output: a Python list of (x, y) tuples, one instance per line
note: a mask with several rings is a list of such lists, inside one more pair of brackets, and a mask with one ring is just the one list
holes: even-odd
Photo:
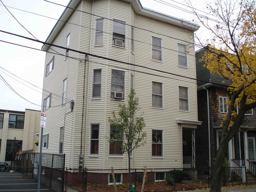
[(91, 124), (90, 155), (99, 154), (99, 124)]

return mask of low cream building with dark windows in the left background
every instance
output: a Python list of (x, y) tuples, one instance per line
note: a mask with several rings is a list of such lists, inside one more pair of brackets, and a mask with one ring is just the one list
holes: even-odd
[(11, 162), (16, 152), (36, 152), (41, 112), (0, 109), (0, 162)]

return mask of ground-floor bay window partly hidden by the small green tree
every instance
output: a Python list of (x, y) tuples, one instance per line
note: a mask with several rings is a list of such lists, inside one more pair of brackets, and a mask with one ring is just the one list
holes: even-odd
[[(117, 141), (113, 133), (118, 133), (117, 127), (110, 126), (110, 139), (113, 139), (113, 143), (109, 143), (109, 154), (110, 155), (123, 155), (121, 152), (122, 141)], [(120, 133), (122, 134), (122, 133)]]

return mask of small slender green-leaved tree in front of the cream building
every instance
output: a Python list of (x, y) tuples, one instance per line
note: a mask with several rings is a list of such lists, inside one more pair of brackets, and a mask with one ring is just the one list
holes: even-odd
[(134, 149), (143, 146), (146, 141), (146, 133), (143, 131), (145, 122), (141, 115), (136, 116), (136, 113), (141, 109), (139, 99), (135, 97), (135, 91), (131, 89), (128, 99), (128, 106), (118, 105), (118, 113), (112, 111), (113, 117), (109, 118), (110, 123), (110, 138), (111, 145), (115, 148), (120, 148), (122, 153), (127, 152), (129, 163), (129, 186), (131, 185), (131, 153)]

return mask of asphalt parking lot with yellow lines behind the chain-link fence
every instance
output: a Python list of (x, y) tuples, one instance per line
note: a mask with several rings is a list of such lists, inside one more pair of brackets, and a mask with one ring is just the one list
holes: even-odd
[[(22, 173), (14, 172), (10, 173), (9, 171), (0, 172), (0, 192), (32, 192), (37, 191), (37, 181), (27, 177)], [(40, 191), (43, 192), (55, 192), (45, 185), (40, 185)]]

